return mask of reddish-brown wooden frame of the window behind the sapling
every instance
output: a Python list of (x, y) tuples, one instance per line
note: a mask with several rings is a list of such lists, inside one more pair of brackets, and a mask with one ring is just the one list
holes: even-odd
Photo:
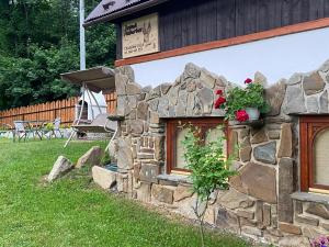
[[(166, 125), (167, 142), (167, 173), (189, 173), (190, 170), (175, 167), (177, 162), (177, 136), (179, 126), (183, 124), (193, 124), (202, 128), (202, 135), (209, 128), (214, 128), (219, 124), (224, 124), (224, 132), (228, 135), (227, 123), (223, 117), (186, 117), (186, 119), (169, 119)], [(204, 136), (203, 136), (204, 137)], [(228, 142), (228, 139), (227, 139)]]

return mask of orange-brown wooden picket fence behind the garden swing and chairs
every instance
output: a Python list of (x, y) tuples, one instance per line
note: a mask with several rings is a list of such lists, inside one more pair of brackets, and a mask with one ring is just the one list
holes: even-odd
[[(116, 96), (114, 92), (104, 94), (107, 103), (107, 112), (114, 113), (116, 109)], [(67, 100), (58, 100), (43, 104), (29, 105), (24, 108), (13, 108), (0, 111), (0, 123), (13, 125), (13, 121), (53, 121), (61, 119), (63, 124), (71, 124), (76, 116), (76, 104), (79, 98), (72, 97)]]

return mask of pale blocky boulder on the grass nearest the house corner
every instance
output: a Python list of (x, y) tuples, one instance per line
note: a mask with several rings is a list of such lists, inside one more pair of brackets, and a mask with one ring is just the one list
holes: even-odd
[(111, 170), (93, 166), (91, 171), (93, 181), (104, 190), (111, 189), (116, 182), (116, 173)]

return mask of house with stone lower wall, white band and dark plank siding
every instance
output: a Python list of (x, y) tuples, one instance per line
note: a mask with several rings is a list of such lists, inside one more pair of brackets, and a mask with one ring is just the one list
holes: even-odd
[[(328, 16), (321, 0), (101, 1), (84, 25), (116, 25), (121, 120), (118, 169), (94, 167), (95, 181), (193, 218), (180, 127), (193, 123), (239, 145), (238, 176), (213, 193), (209, 224), (280, 246), (329, 235)], [(250, 72), (271, 112), (225, 123), (215, 91)]]

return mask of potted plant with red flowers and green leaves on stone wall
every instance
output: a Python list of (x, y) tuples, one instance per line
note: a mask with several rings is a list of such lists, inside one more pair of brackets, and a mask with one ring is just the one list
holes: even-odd
[(228, 90), (226, 98), (223, 90), (216, 91), (218, 99), (215, 101), (215, 109), (225, 110), (226, 120), (256, 121), (260, 113), (269, 111), (263, 86), (254, 83), (250, 78), (245, 80), (245, 85), (246, 88), (235, 87)]

